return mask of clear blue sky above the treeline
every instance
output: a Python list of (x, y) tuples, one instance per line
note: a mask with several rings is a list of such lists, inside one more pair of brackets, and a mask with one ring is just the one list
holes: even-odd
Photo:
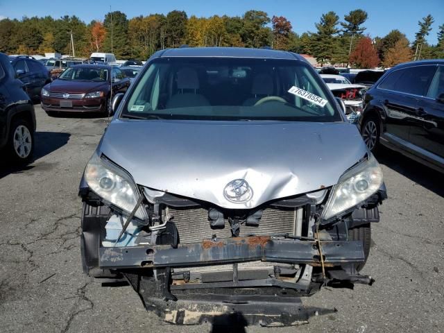
[(60, 17), (76, 15), (85, 22), (92, 19), (103, 20), (110, 10), (120, 10), (128, 18), (138, 15), (149, 15), (178, 9), (185, 10), (189, 16), (208, 17), (211, 15), (242, 15), (246, 10), (264, 10), (268, 16), (284, 16), (291, 21), (296, 33), (316, 31), (315, 22), (321, 15), (334, 10), (341, 19), (350, 10), (361, 8), (368, 12), (368, 20), (364, 26), (366, 33), (372, 37), (383, 37), (392, 29), (399, 29), (413, 40), (418, 31), (418, 20), (432, 14), (435, 19), (428, 42), (436, 44), (438, 26), (444, 24), (444, 0), (135, 0), (135, 1), (54, 1), (54, 0), (0, 0), (0, 17), (20, 19), (23, 16)]

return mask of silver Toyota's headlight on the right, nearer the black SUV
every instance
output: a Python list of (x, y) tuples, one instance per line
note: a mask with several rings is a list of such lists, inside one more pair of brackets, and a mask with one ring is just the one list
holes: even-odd
[(363, 202), (382, 186), (382, 169), (373, 155), (356, 167), (345, 172), (334, 185), (321, 219), (338, 216)]

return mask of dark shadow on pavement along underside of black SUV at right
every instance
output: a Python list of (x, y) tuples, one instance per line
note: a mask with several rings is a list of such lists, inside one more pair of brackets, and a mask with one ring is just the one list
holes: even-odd
[(378, 151), (376, 158), (379, 163), (406, 176), (416, 184), (444, 197), (444, 175), (419, 162), (405, 157), (401, 153), (383, 148)]

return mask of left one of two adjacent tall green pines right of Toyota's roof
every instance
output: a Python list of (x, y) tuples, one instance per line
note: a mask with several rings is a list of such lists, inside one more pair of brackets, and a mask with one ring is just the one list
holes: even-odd
[(311, 51), (313, 56), (321, 65), (332, 59), (333, 53), (337, 51), (336, 34), (339, 29), (336, 27), (339, 16), (335, 12), (327, 12), (321, 17), (321, 22), (316, 23), (317, 33), (311, 35)]

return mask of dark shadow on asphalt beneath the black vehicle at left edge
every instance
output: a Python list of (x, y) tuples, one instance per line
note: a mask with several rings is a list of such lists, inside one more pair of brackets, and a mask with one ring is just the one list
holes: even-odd
[[(58, 148), (65, 146), (68, 143), (69, 133), (60, 132), (36, 132), (34, 135), (35, 148), (33, 160), (24, 166), (15, 166), (8, 163), (7, 158), (2, 158), (0, 161), (0, 179), (8, 176), (10, 173), (23, 173), (33, 169), (33, 162), (41, 157), (49, 155)], [(1, 156), (5, 157), (6, 153), (1, 152)]]

